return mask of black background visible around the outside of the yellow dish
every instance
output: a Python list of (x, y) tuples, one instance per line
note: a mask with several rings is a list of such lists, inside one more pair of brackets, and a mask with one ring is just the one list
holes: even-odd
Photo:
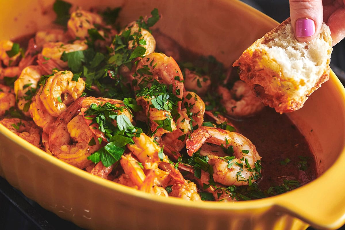
[[(288, 0), (243, 0), (254, 8), (264, 12), (278, 22), (289, 17)], [(333, 47), (331, 68), (338, 78), (345, 83), (345, 41)], [(75, 224), (62, 220), (55, 214), (41, 208), (23, 194), (12, 188), (0, 177), (0, 229), (4, 230), (82, 230)], [(345, 230), (345, 226), (340, 228)], [(307, 230), (314, 230), (308, 228)]]

